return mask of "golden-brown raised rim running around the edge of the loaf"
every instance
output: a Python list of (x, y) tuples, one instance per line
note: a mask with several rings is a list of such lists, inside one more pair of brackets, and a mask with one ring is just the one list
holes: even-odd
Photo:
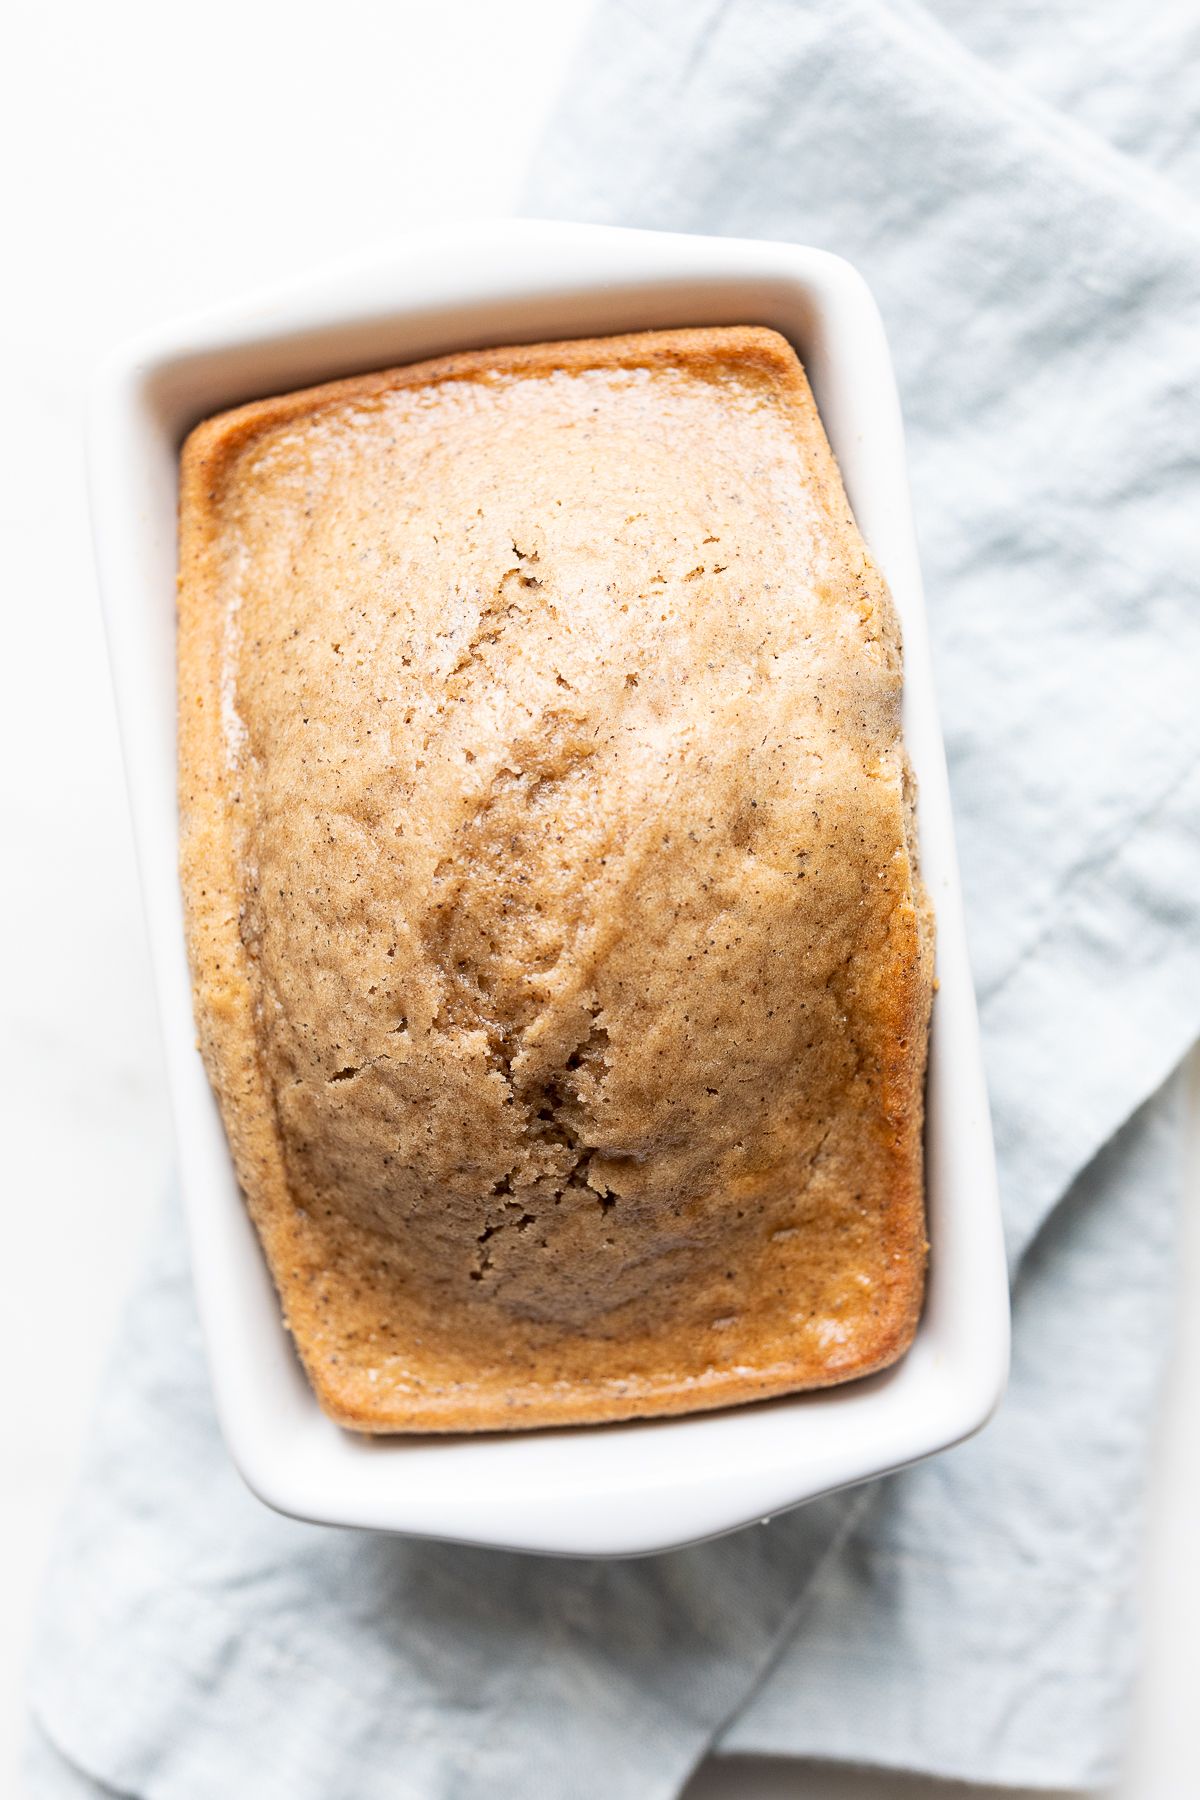
[[(608, 338), (574, 338), (466, 351), (428, 362), (299, 389), (255, 400), (201, 421), (180, 454), (180, 572), (178, 572), (178, 794), (180, 877), (185, 932), (193, 968), (198, 1048), (216, 1093), (237, 1183), (263, 1242), (284, 1321), (297, 1346), (304, 1343), (306, 1292), (291, 1271), (311, 1264), (288, 1190), (275, 1105), (257, 1057), (254, 988), (239, 934), (239, 873), (230, 828), (232, 792), (221, 729), (221, 616), (216, 554), (216, 511), (230, 463), (261, 432), (318, 414), (347, 400), (446, 380), (475, 380), (493, 371), (542, 373), (588, 367), (729, 367), (766, 371), (792, 401), (797, 441), (831, 520), (858, 538), (842, 477), (826, 439), (804, 369), (779, 333), (761, 326), (684, 328), (637, 331)], [(867, 563), (891, 607), (883, 578)], [(338, 1386), (327, 1363), (306, 1363), (322, 1409), (338, 1424), (367, 1433), (455, 1433), (529, 1429), (534, 1426), (603, 1424), (635, 1417), (709, 1411), (747, 1400), (856, 1381), (894, 1363), (912, 1343), (925, 1292), (923, 1195), (923, 1075), (927, 1060), (927, 1006), (932, 983), (932, 909), (919, 884), (916, 826), (907, 812), (907, 850), (912, 866), (914, 907), (903, 952), (889, 970), (894, 1006), (892, 1053), (882, 1073), (882, 1111), (894, 1150), (894, 1186), (887, 1210), (894, 1278), (876, 1327), (860, 1339), (853, 1366), (828, 1381), (797, 1381), (788, 1364), (754, 1372), (714, 1372), (694, 1379), (622, 1382), (622, 1391), (574, 1382), (567, 1391), (542, 1388), (531, 1395), (405, 1397), (403, 1404), (365, 1406), (358, 1391)], [(203, 970), (203, 979), (201, 979)], [(331, 1271), (336, 1278), (336, 1271)]]

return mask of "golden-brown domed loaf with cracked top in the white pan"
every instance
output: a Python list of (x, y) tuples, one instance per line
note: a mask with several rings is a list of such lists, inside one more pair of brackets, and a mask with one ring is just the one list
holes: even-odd
[(772, 331), (448, 356), (193, 432), (196, 1022), (333, 1418), (678, 1413), (909, 1345), (900, 688)]

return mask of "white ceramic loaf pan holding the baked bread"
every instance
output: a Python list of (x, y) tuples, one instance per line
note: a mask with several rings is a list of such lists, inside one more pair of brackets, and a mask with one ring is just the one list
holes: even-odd
[[(191, 1013), (176, 880), (176, 457), (261, 394), (444, 351), (655, 326), (765, 324), (801, 355), (905, 634), (905, 733), (937, 909), (928, 1066), (928, 1296), (882, 1375), (628, 1426), (358, 1438), (317, 1408), (281, 1325)], [(473, 1544), (631, 1555), (693, 1543), (941, 1451), (1007, 1372), (1007, 1283), (900, 405), (862, 277), (822, 250), (504, 221), (410, 238), (365, 266), (160, 329), (115, 355), (90, 410), (95, 549), (158, 990), (196, 1296), (225, 1442), (300, 1519)]]

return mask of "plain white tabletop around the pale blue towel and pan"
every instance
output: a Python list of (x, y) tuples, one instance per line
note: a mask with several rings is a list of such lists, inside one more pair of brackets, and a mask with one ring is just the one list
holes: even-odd
[[(444, 218), (509, 212), (588, 0), (16, 0), (0, 166), (0, 706), (7, 1103), (0, 1258), (0, 1793), (20, 1672), (97, 1368), (167, 1179), (169, 1129), (88, 545), (81, 394), (117, 338)], [(1196, 1094), (1200, 1096), (1200, 1082)], [(1193, 1107), (1200, 1118), (1200, 1102)], [(1191, 1197), (1200, 1197), (1200, 1132)], [(1180, 1292), (1200, 1294), (1189, 1208)], [(1166, 1328), (1166, 1325), (1164, 1325)], [(1200, 1793), (1200, 1309), (1151, 1478), (1139, 1723), (1110, 1800)], [(909, 1778), (720, 1764), (689, 1800), (912, 1800)]]

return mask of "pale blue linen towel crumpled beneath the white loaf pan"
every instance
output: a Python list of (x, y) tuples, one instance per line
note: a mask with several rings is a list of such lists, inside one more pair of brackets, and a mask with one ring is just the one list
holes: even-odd
[(822, 243), (883, 306), (1015, 1271), (1000, 1417), (640, 1562), (322, 1532), (228, 1467), (171, 1208), (47, 1579), (34, 1795), (667, 1800), (711, 1748), (1112, 1775), (1164, 1082), (1200, 1030), (1200, 232), (1187, 133), (1119, 79), (1160, 67), (1184, 103), (1164, 32), (1103, 0), (1067, 54), (1058, 7), (610, 0), (533, 189)]

